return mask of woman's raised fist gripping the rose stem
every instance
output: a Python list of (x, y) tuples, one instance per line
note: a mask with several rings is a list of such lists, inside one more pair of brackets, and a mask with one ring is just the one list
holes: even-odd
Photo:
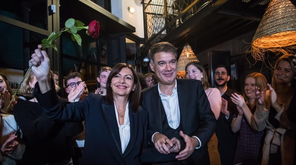
[(35, 49), (35, 53), (31, 57), (29, 65), (33, 64), (32, 71), (36, 79), (38, 81), (48, 81), (50, 79), (50, 61), (43, 47), (38, 45), (38, 49)]

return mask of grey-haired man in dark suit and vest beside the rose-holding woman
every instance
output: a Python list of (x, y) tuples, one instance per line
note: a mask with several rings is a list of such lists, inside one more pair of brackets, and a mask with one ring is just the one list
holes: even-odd
[(170, 43), (152, 45), (148, 57), (159, 83), (142, 92), (149, 124), (141, 161), (210, 164), (206, 143), (217, 121), (201, 81), (176, 79), (177, 52)]

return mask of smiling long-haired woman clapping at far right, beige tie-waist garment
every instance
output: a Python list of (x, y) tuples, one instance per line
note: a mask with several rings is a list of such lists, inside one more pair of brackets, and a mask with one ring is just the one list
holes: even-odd
[(289, 120), (292, 116), (287, 115), (295, 111), (295, 102), (291, 101), (296, 100), (293, 58), (293, 55), (283, 55), (276, 61), (272, 84), (268, 84), (270, 90), (262, 97), (265, 107), (258, 106), (252, 120), (256, 130), (267, 129), (262, 164), (293, 164), (296, 124)]

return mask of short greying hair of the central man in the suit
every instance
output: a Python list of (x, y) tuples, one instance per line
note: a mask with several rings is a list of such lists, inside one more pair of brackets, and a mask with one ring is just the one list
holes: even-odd
[(174, 45), (172, 45), (171, 43), (168, 43), (168, 42), (155, 43), (151, 46), (151, 48), (148, 51), (148, 58), (152, 64), (154, 63), (155, 54), (159, 52), (173, 53), (176, 59), (178, 56), (177, 48), (175, 48)]

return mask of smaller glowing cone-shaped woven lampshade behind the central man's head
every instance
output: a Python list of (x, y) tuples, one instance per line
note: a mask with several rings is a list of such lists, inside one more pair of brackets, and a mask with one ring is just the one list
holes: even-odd
[(191, 46), (188, 43), (186, 43), (177, 63), (177, 74), (185, 76), (186, 74), (185, 66), (191, 61), (199, 62), (199, 60), (196, 58), (195, 54), (193, 53)]

